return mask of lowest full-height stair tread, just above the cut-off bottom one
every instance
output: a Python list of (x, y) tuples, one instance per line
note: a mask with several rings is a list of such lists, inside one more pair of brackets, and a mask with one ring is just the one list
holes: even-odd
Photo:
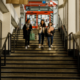
[[(78, 76), (78, 74), (49, 74), (49, 73), (47, 73), (47, 74), (38, 74), (38, 73), (1, 73), (1, 76), (5, 76), (5, 77), (63, 77), (63, 78), (65, 78), (65, 77), (79, 77)], [(79, 77), (80, 78), (80, 77)]]

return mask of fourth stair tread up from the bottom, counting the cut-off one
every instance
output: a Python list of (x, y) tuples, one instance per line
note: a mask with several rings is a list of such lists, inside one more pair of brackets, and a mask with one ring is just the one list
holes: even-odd
[(35, 68), (36, 68), (36, 69), (39, 69), (39, 68), (40, 68), (40, 69), (41, 69), (41, 68), (42, 68), (42, 69), (44, 69), (44, 68), (45, 68), (45, 69), (46, 69), (46, 68), (47, 68), (47, 69), (48, 69), (48, 68), (50, 68), (50, 69), (51, 69), (51, 68), (52, 68), (52, 69), (53, 69), (53, 68), (63, 68), (63, 69), (64, 69), (64, 68), (77, 68), (77, 66), (74, 65), (74, 64), (73, 64), (73, 65), (66, 65), (66, 64), (64, 64), (64, 65), (58, 65), (58, 66), (57, 66), (57, 65), (50, 65), (50, 64), (49, 64), (49, 65), (45, 65), (45, 64), (44, 64), (44, 65), (16, 65), (16, 64), (15, 64), (15, 65), (11, 65), (11, 64), (9, 64), (9, 65), (6, 65), (6, 66), (2, 66), (2, 68), (3, 68), (3, 69), (4, 69), (4, 68), (5, 68), (5, 69), (7, 69), (7, 68), (34, 68), (34, 69), (35, 69)]

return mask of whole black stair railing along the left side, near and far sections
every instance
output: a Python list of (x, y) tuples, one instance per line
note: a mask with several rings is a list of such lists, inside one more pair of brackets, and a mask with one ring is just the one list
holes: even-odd
[[(1, 66), (6, 66), (6, 54), (10, 54), (11, 52), (11, 37), (14, 38), (14, 52), (15, 52), (15, 46), (17, 45), (19, 31), (20, 31), (19, 28), (16, 28), (14, 30), (15, 35), (8, 33), (7, 37), (0, 39), (0, 40), (5, 39), (4, 44), (0, 50), (0, 80), (1, 80)], [(3, 55), (4, 57), (4, 63), (1, 62), (1, 55)]]

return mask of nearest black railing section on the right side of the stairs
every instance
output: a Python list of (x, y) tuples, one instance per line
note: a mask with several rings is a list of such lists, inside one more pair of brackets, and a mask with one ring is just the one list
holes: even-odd
[[(80, 47), (74, 37), (74, 34), (71, 32), (69, 35), (69, 51), (71, 50), (71, 45), (73, 44), (73, 57), (78, 60), (78, 72), (80, 72)], [(73, 43), (71, 43), (71, 40), (73, 40)]]

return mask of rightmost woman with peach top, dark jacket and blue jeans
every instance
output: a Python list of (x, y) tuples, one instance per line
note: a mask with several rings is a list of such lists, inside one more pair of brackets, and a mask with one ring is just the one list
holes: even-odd
[[(49, 26), (47, 28), (47, 38), (48, 38), (48, 46), (49, 50), (51, 50), (52, 44), (53, 44), (53, 36), (54, 36), (55, 29), (52, 27), (52, 22), (49, 23)], [(50, 41), (51, 39), (51, 41)]]

